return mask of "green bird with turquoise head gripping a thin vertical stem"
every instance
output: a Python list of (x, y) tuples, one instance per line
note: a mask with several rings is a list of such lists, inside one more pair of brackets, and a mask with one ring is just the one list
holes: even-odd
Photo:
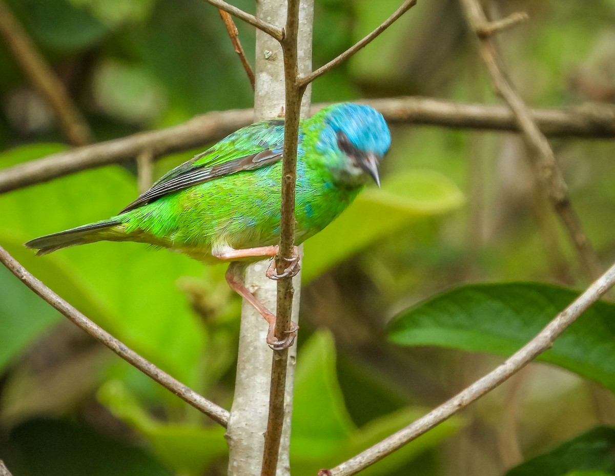
[[(336, 103), (300, 121), (297, 148), (295, 245), (321, 231), (343, 212), (370, 180), (391, 146), (384, 117), (367, 105)], [(143, 242), (170, 248), (204, 263), (229, 262), (228, 285), (267, 321), (266, 343), (293, 344), (298, 325), (282, 338), (276, 316), (244, 283), (247, 264), (276, 256), (280, 236), (280, 189), (284, 119), (256, 122), (231, 133), (175, 167), (108, 220), (41, 236), (25, 246), (45, 255), (103, 240)], [(297, 248), (282, 272), (295, 276)]]

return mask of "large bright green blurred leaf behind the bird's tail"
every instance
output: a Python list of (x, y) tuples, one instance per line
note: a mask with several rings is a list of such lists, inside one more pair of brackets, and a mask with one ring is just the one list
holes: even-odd
[[(18, 148), (0, 164), (24, 158)], [(120, 167), (88, 170), (0, 196), (0, 242), (52, 289), (117, 338), (186, 384), (196, 383), (204, 328), (177, 287), (201, 265), (145, 245), (108, 243), (34, 256), (22, 243), (49, 232), (115, 215), (136, 195), (135, 181)]]

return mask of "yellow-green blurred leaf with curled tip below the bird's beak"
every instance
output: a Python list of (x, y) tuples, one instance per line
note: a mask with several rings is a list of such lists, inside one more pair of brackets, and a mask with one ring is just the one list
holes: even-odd
[(337, 220), (306, 242), (303, 279), (311, 280), (421, 217), (450, 212), (463, 202), (459, 188), (438, 172), (397, 174), (383, 181), (382, 189), (363, 191)]

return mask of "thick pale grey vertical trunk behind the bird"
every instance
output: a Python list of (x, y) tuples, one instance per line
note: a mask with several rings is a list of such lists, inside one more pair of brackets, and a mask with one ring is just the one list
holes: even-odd
[[(286, 20), (284, 0), (260, 0), (256, 3), (256, 17), (266, 19), (269, 25), (284, 25)], [(312, 0), (303, 0), (300, 5), (302, 28), (298, 35), (298, 61), (302, 73), (311, 69), (312, 46)], [(277, 28), (274, 27), (274, 28)], [(279, 29), (282, 30), (281, 28)], [(255, 64), (255, 121), (279, 117), (285, 111), (285, 71), (282, 47), (277, 39), (262, 31), (256, 31)], [(303, 110), (309, 110), (309, 95), (304, 96)], [(296, 148), (296, 145), (295, 145)], [(294, 186), (294, 181), (293, 181)], [(249, 266), (245, 282), (268, 309), (276, 309), (276, 284), (265, 277), (268, 263)], [(300, 275), (296, 276), (293, 296), (292, 320), (298, 320)], [(229, 442), (229, 476), (259, 474), (261, 472), (264, 440), (268, 422), (269, 382), (271, 380), (272, 352), (264, 339), (267, 326), (252, 306), (244, 303), (239, 336), (237, 379), (227, 439)], [(292, 387), (295, 368), (296, 346), (288, 349), (285, 364), (283, 392), (283, 421), (277, 474), (290, 474), (288, 447), (290, 444), (290, 417), (292, 414)], [(279, 401), (279, 400), (277, 400)], [(275, 467), (274, 467), (275, 469)]]

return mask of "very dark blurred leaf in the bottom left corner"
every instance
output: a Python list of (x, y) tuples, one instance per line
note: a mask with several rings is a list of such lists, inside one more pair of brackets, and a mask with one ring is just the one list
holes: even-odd
[(57, 420), (32, 420), (0, 445), (15, 476), (172, 476), (143, 449)]

